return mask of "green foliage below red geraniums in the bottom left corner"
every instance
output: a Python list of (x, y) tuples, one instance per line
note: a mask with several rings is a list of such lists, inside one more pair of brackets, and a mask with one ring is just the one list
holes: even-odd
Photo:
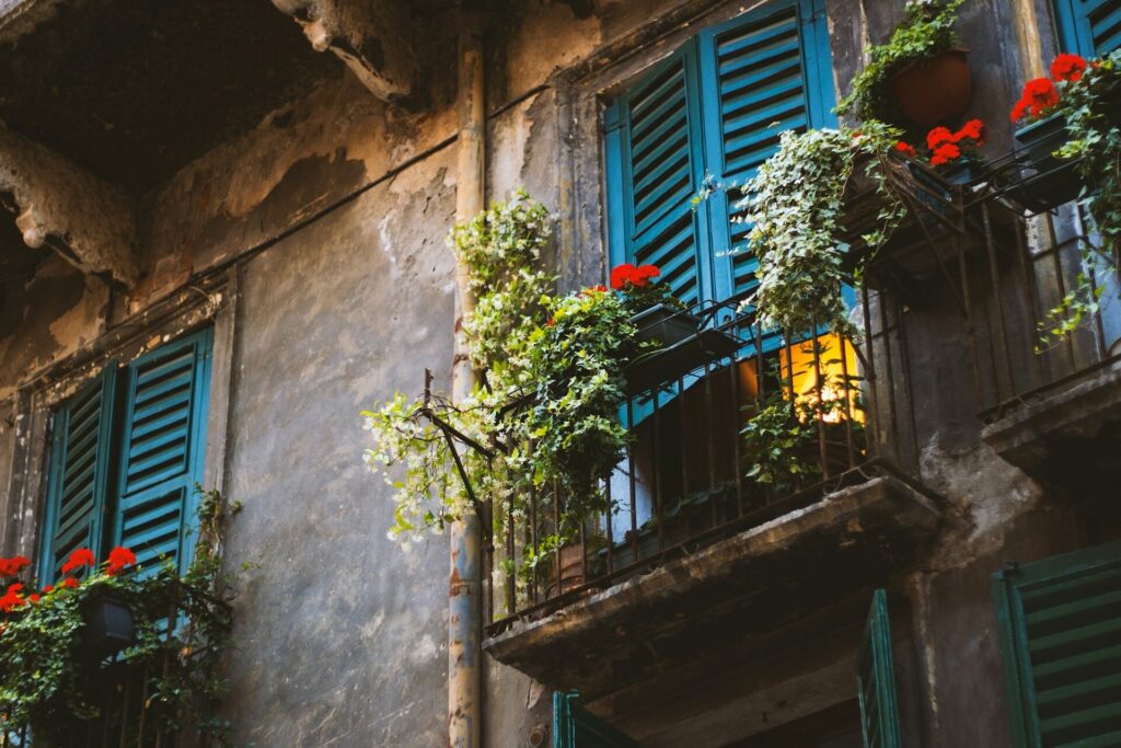
[[(232, 599), (220, 552), (225, 518), (237, 507), (216, 491), (196, 490), (203, 496), (200, 541), (183, 578), (172, 562), (126, 573), (106, 562), (81, 581), (67, 578), (22, 602), (8, 598), (0, 624), (0, 711), (9, 729), (27, 724), (37, 744), (54, 745), (76, 722), (102, 717), (104, 668), (128, 667), (146, 678), (150, 731), (193, 726), (229, 745), (229, 724), (215, 717), (226, 685), (221, 668)], [(105, 597), (124, 603), (136, 626), (135, 644), (112, 663), (91, 661), (83, 641), (85, 611)]]

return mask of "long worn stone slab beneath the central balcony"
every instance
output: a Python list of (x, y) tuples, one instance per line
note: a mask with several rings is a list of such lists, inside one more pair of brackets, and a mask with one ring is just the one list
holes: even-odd
[(938, 528), (930, 499), (873, 478), (590, 594), (484, 643), (553, 687), (596, 698), (717, 657), (909, 567)]

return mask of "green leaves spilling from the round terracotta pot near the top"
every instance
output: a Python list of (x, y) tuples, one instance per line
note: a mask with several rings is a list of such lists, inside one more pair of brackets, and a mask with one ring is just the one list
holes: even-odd
[(965, 0), (910, 0), (907, 20), (887, 44), (869, 49), (869, 63), (852, 81), (852, 91), (837, 104), (837, 114), (852, 112), (859, 120), (897, 121), (888, 98), (891, 76), (910, 63), (930, 59), (954, 47), (954, 24)]

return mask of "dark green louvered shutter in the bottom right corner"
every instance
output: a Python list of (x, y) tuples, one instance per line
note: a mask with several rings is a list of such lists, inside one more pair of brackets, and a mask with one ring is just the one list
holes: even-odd
[(993, 575), (1016, 746), (1121, 745), (1121, 543)]

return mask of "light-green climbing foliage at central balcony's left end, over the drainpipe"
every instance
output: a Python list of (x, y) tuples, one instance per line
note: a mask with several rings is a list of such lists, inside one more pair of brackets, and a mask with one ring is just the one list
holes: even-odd
[(482, 512), (470, 484), (491, 499), (491, 529), (501, 541), (536, 508), (552, 516), (559, 491), (558, 526), (535, 528), (539, 542), (522, 558), (524, 578), (606, 508), (601, 481), (629, 438), (618, 413), (623, 368), (636, 352), (630, 316), (667, 298), (647, 285), (554, 296), (554, 278), (538, 268), (548, 240), (545, 207), (520, 191), (455, 227), (451, 244), (476, 294), (464, 332), (482, 384), (461, 403), (397, 394), (362, 414), (373, 437), (365, 461), (395, 489), (391, 538), (419, 542), (467, 511)]

